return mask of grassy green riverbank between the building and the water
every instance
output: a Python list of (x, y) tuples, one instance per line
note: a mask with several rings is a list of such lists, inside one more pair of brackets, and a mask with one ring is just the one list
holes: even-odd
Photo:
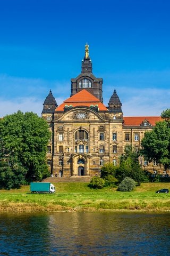
[(55, 194), (31, 194), (29, 186), (0, 190), (0, 212), (170, 211), (170, 183), (142, 183), (131, 192), (90, 189), (88, 183), (55, 183)]

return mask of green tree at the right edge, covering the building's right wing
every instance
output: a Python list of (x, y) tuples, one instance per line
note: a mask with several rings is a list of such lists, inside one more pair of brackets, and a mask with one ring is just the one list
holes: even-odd
[(165, 110), (162, 117), (166, 121), (156, 123), (151, 132), (146, 132), (141, 141), (142, 154), (151, 161), (157, 161), (164, 166), (164, 169), (170, 168), (170, 127), (169, 127), (169, 110)]

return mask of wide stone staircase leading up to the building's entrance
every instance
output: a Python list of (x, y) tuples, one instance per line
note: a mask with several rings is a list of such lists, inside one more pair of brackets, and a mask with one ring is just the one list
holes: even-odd
[(71, 176), (71, 177), (49, 177), (44, 179), (42, 182), (90, 182), (90, 176)]

